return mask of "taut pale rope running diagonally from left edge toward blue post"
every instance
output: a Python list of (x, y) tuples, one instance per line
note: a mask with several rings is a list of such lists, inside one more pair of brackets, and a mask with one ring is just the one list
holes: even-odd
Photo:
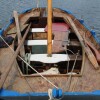
[[(6, 45), (11, 49), (12, 52), (14, 52), (14, 50), (9, 46), (9, 44), (2, 38), (2, 36), (0, 35), (1, 39), (6, 43)], [(50, 83), (52, 86), (54, 86), (55, 88), (59, 89), (55, 84), (53, 84), (50, 80), (48, 80), (46, 77), (44, 77), (41, 73), (39, 73), (36, 69), (34, 69), (30, 64), (28, 64), (23, 58), (21, 58), (19, 55), (18, 57), (24, 62), (26, 63), (31, 69), (33, 69), (38, 75), (40, 75), (43, 79), (45, 79), (48, 83)]]

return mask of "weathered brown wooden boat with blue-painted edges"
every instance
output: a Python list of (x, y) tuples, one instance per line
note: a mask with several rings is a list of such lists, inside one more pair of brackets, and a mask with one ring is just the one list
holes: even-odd
[[(98, 54), (100, 45), (83, 20), (68, 11), (53, 8), (52, 34), (48, 34), (46, 8), (33, 8), (18, 17), (14, 12), (14, 18), (2, 31), (4, 36), (14, 37), (12, 50), (0, 49), (2, 97), (30, 95), (47, 99), (44, 92), (55, 87), (65, 92), (66, 99), (69, 92), (72, 95), (81, 92), (94, 95), (91, 91), (100, 90), (99, 60), (89, 44)], [(42, 94), (34, 95), (34, 92)]]

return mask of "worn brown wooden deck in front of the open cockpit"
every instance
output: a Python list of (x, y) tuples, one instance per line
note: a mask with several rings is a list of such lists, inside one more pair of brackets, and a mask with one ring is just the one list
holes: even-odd
[[(5, 72), (7, 62), (12, 57), (12, 52), (9, 48), (0, 49), (0, 71)], [(9, 59), (9, 60), (8, 60)], [(6, 66), (6, 67), (4, 67)], [(22, 77), (17, 69), (16, 61), (4, 83), (4, 88), (15, 90), (18, 92), (47, 92), (49, 88), (53, 88), (47, 81), (41, 77)], [(89, 60), (85, 59), (85, 67), (81, 77), (72, 77), (71, 82), (68, 76), (52, 76), (47, 77), (63, 91), (93, 91), (100, 89), (100, 72), (95, 70)], [(71, 83), (71, 84), (70, 84)]]

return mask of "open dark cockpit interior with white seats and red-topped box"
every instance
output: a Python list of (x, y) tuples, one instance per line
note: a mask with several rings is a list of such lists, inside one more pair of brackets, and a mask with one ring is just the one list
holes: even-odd
[[(54, 62), (53, 57), (51, 57), (53, 61), (46, 57), (48, 36), (46, 9), (41, 9), (40, 16), (30, 17), (25, 22), (25, 24), (29, 23), (31, 23), (31, 29), (24, 43), (25, 61), (43, 75), (70, 75), (72, 73), (73, 75), (80, 76), (84, 64), (84, 51), (78, 37), (69, 24), (66, 23), (62, 17), (52, 17), (52, 55), (58, 55), (57, 61), (55, 60)], [(22, 31), (22, 35), (24, 35), (25, 31), (26, 29)], [(18, 40), (16, 36), (14, 50), (16, 50), (17, 47)], [(40, 59), (41, 57), (42, 60)], [(39, 60), (37, 58), (39, 58)], [(45, 59), (50, 61), (45, 61)], [(17, 62), (19, 65), (18, 69), (22, 76), (38, 76), (35, 71), (18, 57)], [(52, 73), (50, 69), (54, 72)], [(49, 70), (51, 72), (49, 72)]]

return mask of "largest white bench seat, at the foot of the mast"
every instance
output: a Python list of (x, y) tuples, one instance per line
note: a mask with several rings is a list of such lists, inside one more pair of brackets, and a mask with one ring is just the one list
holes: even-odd
[(48, 57), (47, 54), (32, 54), (30, 61), (39, 61), (42, 63), (58, 63), (62, 61), (70, 61), (67, 54), (52, 54), (52, 57)]

